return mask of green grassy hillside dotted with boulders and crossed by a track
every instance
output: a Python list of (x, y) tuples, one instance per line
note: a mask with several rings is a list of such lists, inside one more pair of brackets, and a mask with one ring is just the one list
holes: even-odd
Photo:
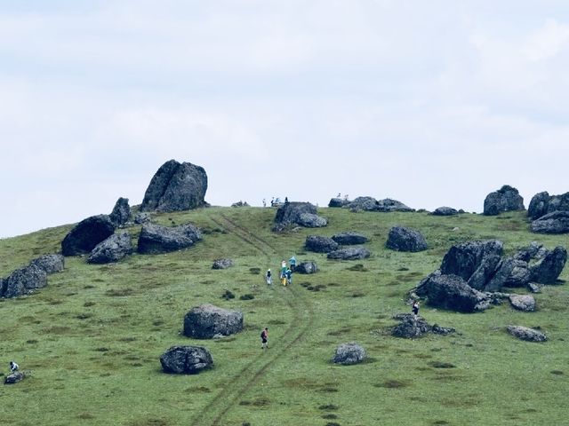
[[(455, 335), (415, 340), (389, 335), (392, 316), (409, 312), (405, 293), (437, 269), (451, 245), (496, 238), (507, 253), (563, 235), (528, 232), (524, 212), (483, 217), (426, 213), (352, 213), (319, 209), (321, 229), (271, 233), (275, 209), (209, 208), (156, 215), (162, 225), (192, 222), (204, 231), (195, 248), (133, 255), (118, 264), (66, 258), (66, 270), (32, 296), (0, 299), (0, 362), (31, 375), (0, 391), (0, 424), (10, 425), (534, 425), (569, 424), (569, 322), (566, 285), (535, 295), (538, 311), (509, 304), (476, 314), (421, 307), (429, 323)], [(384, 247), (389, 228), (423, 233), (429, 249)], [(458, 231), (453, 228), (458, 227)], [(0, 241), (0, 276), (60, 251), (70, 225)], [(132, 239), (139, 227), (129, 228)], [(364, 261), (329, 261), (306, 253), (309, 234), (357, 231), (371, 238)], [(296, 255), (320, 272), (294, 275), (290, 288), (263, 280), (268, 267)], [(235, 266), (212, 270), (216, 258)], [(565, 268), (561, 279), (569, 279)], [(226, 290), (234, 299), (221, 296)], [(520, 289), (517, 292), (525, 292)], [(251, 300), (240, 296), (252, 295)], [(244, 312), (244, 331), (220, 340), (180, 334), (186, 312), (211, 303)], [(547, 343), (507, 334), (509, 324), (541, 327)], [(270, 349), (260, 349), (269, 327)], [(357, 342), (369, 359), (331, 364), (340, 343)], [(203, 345), (214, 368), (166, 375), (159, 357), (175, 344)]]

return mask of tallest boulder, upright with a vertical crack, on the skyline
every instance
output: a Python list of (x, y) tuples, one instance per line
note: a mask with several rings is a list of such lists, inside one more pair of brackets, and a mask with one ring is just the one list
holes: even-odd
[(156, 171), (144, 193), (140, 211), (180, 211), (205, 205), (204, 168), (170, 160)]

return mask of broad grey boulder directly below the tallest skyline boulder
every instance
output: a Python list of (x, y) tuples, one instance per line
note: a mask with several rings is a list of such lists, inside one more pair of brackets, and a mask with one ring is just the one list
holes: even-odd
[(191, 224), (161, 226), (144, 224), (140, 231), (138, 252), (145, 254), (166, 253), (189, 248), (202, 239), (202, 234)]

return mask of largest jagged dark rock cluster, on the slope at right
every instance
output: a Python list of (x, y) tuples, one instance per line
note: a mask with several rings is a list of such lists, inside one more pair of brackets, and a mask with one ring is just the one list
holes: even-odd
[(415, 295), (427, 298), (431, 306), (458, 312), (483, 311), (490, 304), (501, 303), (501, 298), (506, 296), (517, 308), (517, 305), (531, 306), (529, 298), (512, 299), (511, 295), (502, 294), (501, 288), (529, 287), (532, 282), (551, 284), (557, 280), (567, 259), (565, 248), (559, 246), (549, 251), (537, 243), (521, 249), (513, 257), (502, 258), (502, 251), (502, 242), (496, 240), (453, 246), (441, 267), (421, 280)]

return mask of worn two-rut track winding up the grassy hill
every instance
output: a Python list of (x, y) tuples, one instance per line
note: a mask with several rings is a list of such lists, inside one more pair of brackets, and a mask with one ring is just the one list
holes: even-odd
[[(210, 217), (210, 219), (228, 233), (236, 235), (241, 241), (259, 250), (260, 253), (267, 256), (268, 261), (271, 260), (271, 255), (276, 256), (276, 248), (244, 227), (237, 225), (226, 215), (220, 214), (220, 217)], [(312, 327), (314, 312), (309, 300), (301, 294), (298, 288), (280, 288), (278, 286), (277, 288), (283, 295), (284, 302), (293, 311), (290, 326), (286, 328), (276, 346), (271, 346), (268, 351), (260, 351), (259, 355), (253, 357), (239, 373), (226, 383), (225, 387), (212, 398), (212, 402), (204, 406), (202, 412), (196, 415), (190, 423), (191, 426), (221, 424), (221, 420), (228, 411), (236, 406), (254, 383), (259, 382), (260, 378), (267, 373), (268, 368), (279, 359), (284, 358), (288, 350), (301, 341)]]

